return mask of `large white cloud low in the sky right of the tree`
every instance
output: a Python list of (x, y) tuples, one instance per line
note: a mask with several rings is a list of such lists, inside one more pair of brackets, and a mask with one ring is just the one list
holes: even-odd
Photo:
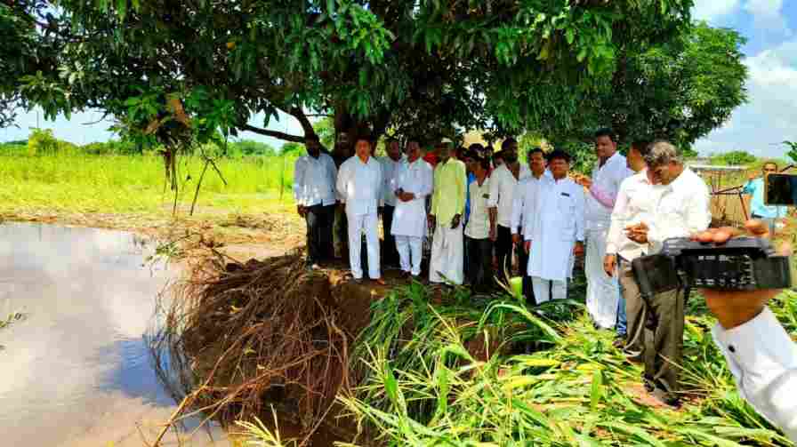
[(797, 40), (745, 60), (749, 102), (729, 124), (696, 142), (703, 153), (746, 150), (757, 156), (783, 156), (783, 140), (797, 140)]

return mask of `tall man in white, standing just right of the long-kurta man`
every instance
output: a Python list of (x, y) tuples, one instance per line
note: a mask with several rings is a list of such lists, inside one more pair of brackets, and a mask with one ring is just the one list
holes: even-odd
[(620, 300), (617, 278), (607, 275), (603, 269), (608, 228), (620, 184), (632, 175), (625, 157), (617, 152), (615, 138), (608, 129), (595, 132), (595, 152), (598, 155), (598, 162), (592, 169), (592, 187), (611, 197), (611, 206), (601, 204), (592, 195), (586, 195), (584, 211), (587, 241), (584, 259), (587, 312), (592, 316), (592, 321), (603, 329), (615, 327), (617, 305)]

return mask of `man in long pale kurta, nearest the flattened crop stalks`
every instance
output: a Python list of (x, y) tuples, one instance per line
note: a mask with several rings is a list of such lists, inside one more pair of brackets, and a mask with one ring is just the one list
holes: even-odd
[(584, 188), (568, 178), (570, 156), (554, 150), (548, 156), (551, 181), (540, 188), (539, 212), (529, 239), (528, 274), (535, 299), (566, 299), (573, 275), (573, 256), (584, 253)]

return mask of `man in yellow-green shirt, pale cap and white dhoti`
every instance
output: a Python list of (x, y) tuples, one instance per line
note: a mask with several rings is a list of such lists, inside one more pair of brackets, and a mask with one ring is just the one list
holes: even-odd
[(429, 262), (429, 282), (462, 284), (464, 281), (463, 213), (465, 212), (465, 164), (450, 156), (450, 143), (438, 146), (434, 170), (430, 223), (434, 227)]

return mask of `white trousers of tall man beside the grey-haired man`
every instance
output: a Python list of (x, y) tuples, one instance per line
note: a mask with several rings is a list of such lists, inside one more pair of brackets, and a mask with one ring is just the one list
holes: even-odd
[(603, 269), (607, 235), (608, 228), (587, 231), (587, 254), (584, 259), (587, 312), (604, 329), (612, 328), (617, 323), (617, 306), (620, 300), (620, 285), (616, 276), (607, 275)]

